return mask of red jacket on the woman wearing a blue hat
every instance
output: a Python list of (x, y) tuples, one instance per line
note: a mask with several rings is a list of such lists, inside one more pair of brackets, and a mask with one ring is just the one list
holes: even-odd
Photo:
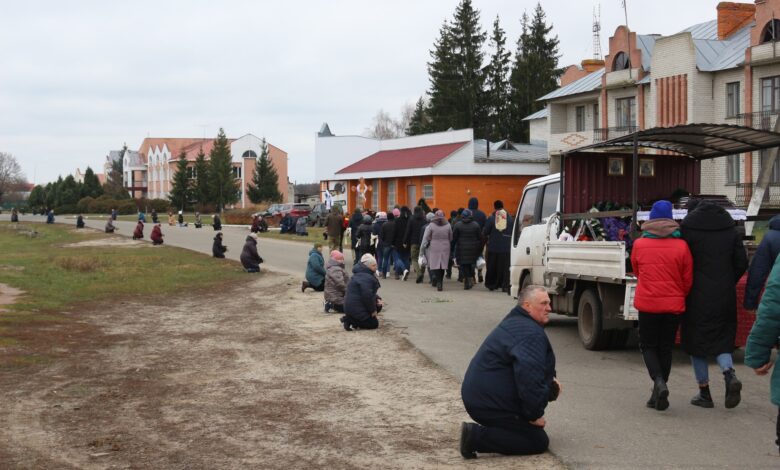
[(679, 238), (640, 238), (631, 251), (637, 277), (634, 307), (646, 313), (685, 312), (693, 284), (693, 257)]

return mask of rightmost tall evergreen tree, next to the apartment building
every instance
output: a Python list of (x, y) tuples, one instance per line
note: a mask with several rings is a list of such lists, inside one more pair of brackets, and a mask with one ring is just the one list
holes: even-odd
[(563, 69), (558, 67), (558, 36), (550, 37), (552, 26), (547, 26), (542, 5), (537, 3), (530, 21), (523, 14), (522, 33), (517, 41), (515, 64), (510, 77), (512, 94), (511, 138), (528, 142), (528, 123), (522, 119), (540, 110), (544, 105), (536, 101), (558, 87)]

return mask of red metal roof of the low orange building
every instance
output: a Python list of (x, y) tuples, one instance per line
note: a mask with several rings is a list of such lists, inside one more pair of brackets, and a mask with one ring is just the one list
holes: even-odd
[(429, 145), (427, 147), (382, 150), (346, 168), (342, 168), (336, 174), (429, 168), (449, 157), (467, 143), (455, 142), (452, 144)]

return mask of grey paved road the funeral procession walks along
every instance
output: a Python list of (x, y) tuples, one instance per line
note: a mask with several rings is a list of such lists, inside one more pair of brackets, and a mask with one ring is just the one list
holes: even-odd
[[(3, 215), (3, 220), (7, 216)], [(24, 219), (30, 219), (25, 217)], [(36, 217), (35, 220), (42, 220)], [(74, 223), (72, 219), (60, 222)], [(102, 221), (88, 221), (102, 228)], [(134, 224), (119, 222), (129, 235)], [(147, 225), (147, 236), (151, 227)], [(237, 259), (248, 233), (225, 228), (228, 256)], [(163, 226), (166, 243), (210, 253), (213, 231)], [(292, 241), (261, 239), (264, 267), (302, 276), (309, 246)], [(347, 255), (349, 258), (349, 255)], [(438, 293), (426, 285), (382, 281), (389, 307), (385, 318), (405, 328), (409, 340), (433, 361), (462, 378), (483, 338), (513, 306), (513, 300), (479, 286), (458, 289), (454, 281)], [(320, 295), (309, 291), (306, 295)], [(337, 327), (334, 318), (334, 327)], [(547, 411), (551, 450), (573, 468), (780, 468), (774, 445), (777, 410), (768, 400), (767, 379), (756, 377), (736, 361), (744, 383), (738, 408), (723, 408), (723, 381), (710, 368), (716, 408), (688, 404), (696, 384), (687, 357), (677, 353), (670, 380), (671, 407), (660, 413), (645, 408), (650, 393), (636, 348), (591, 352), (582, 348), (574, 319), (553, 316), (548, 335), (558, 360), (564, 392)]]

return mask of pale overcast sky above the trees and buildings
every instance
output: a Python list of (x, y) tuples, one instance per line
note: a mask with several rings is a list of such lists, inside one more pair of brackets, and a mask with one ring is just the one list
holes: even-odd
[[(715, 19), (715, 0), (627, 0), (642, 34)], [(314, 134), (362, 134), (428, 87), (426, 62), (459, 0), (28, 1), (0, 14), (0, 151), (35, 183), (90, 165), (144, 137), (265, 136), (290, 178), (314, 178)], [(561, 64), (592, 55), (596, 2), (542, 0)], [(536, 1), (474, 0), (514, 50)], [(605, 51), (624, 23), (601, 1)]]

